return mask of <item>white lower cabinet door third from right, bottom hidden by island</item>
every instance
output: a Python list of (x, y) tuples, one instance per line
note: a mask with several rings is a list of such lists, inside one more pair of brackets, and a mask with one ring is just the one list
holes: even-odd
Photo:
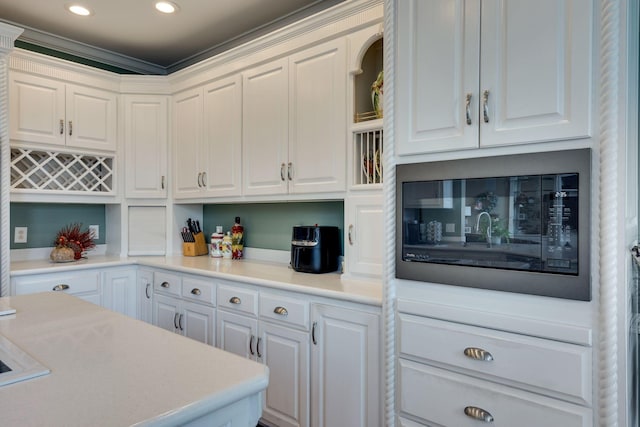
[(218, 310), (218, 347), (256, 360), (258, 320)]

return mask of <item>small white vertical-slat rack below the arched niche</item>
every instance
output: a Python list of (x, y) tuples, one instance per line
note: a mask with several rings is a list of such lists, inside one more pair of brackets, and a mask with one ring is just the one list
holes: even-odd
[(382, 129), (354, 132), (354, 184), (382, 184)]

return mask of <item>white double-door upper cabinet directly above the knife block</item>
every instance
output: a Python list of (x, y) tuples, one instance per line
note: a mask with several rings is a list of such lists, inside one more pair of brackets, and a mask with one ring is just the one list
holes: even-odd
[(174, 98), (177, 198), (240, 195), (241, 103), (240, 75)]

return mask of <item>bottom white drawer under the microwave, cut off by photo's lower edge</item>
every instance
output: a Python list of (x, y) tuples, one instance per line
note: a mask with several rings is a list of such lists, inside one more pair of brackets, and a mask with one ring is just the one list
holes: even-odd
[[(591, 410), (488, 381), (400, 359), (400, 411), (428, 425), (590, 427)], [(493, 422), (465, 414), (478, 408)], [(476, 413), (480, 411), (477, 410)]]

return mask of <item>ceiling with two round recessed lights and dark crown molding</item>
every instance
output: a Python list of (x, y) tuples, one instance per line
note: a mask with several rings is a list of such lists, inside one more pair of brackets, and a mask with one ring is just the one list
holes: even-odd
[(145, 74), (167, 74), (344, 0), (0, 0), (0, 21), (25, 28), (19, 41)]

